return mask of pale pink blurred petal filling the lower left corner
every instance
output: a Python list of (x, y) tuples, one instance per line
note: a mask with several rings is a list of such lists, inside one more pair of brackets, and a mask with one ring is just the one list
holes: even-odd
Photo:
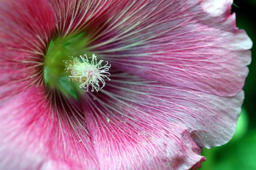
[(5, 102), (0, 107), (0, 169), (98, 169), (76, 104), (58, 93), (47, 96), (43, 87), (30, 88)]

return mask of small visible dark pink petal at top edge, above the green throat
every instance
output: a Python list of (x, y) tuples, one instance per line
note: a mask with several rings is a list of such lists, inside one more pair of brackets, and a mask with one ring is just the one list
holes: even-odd
[(94, 29), (117, 13), (128, 0), (49, 0), (55, 13), (57, 35)]

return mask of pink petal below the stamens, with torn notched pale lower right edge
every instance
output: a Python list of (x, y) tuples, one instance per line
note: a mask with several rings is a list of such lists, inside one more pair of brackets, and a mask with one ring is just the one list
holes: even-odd
[(83, 104), (102, 170), (200, 167), (199, 147), (222, 145), (234, 135), (243, 92), (219, 97), (127, 73), (111, 78)]

